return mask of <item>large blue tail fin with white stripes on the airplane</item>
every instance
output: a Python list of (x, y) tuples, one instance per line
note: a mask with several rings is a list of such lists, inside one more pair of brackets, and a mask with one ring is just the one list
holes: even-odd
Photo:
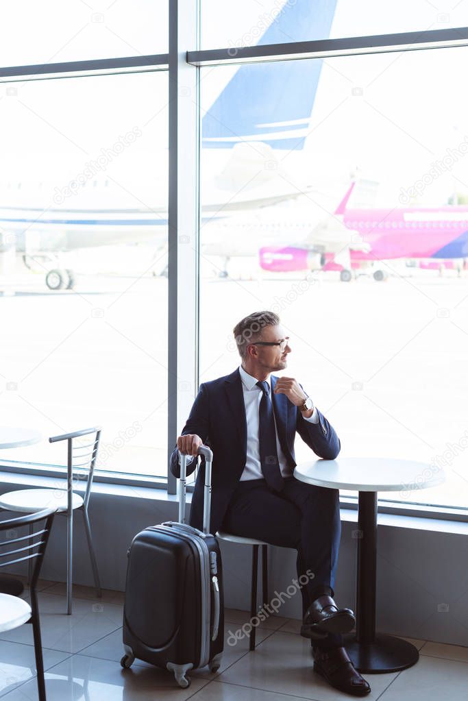
[[(258, 44), (327, 39), (336, 1), (286, 1)], [(203, 146), (261, 141), (275, 149), (301, 149), (321, 69), (321, 59), (241, 65), (203, 117)]]

